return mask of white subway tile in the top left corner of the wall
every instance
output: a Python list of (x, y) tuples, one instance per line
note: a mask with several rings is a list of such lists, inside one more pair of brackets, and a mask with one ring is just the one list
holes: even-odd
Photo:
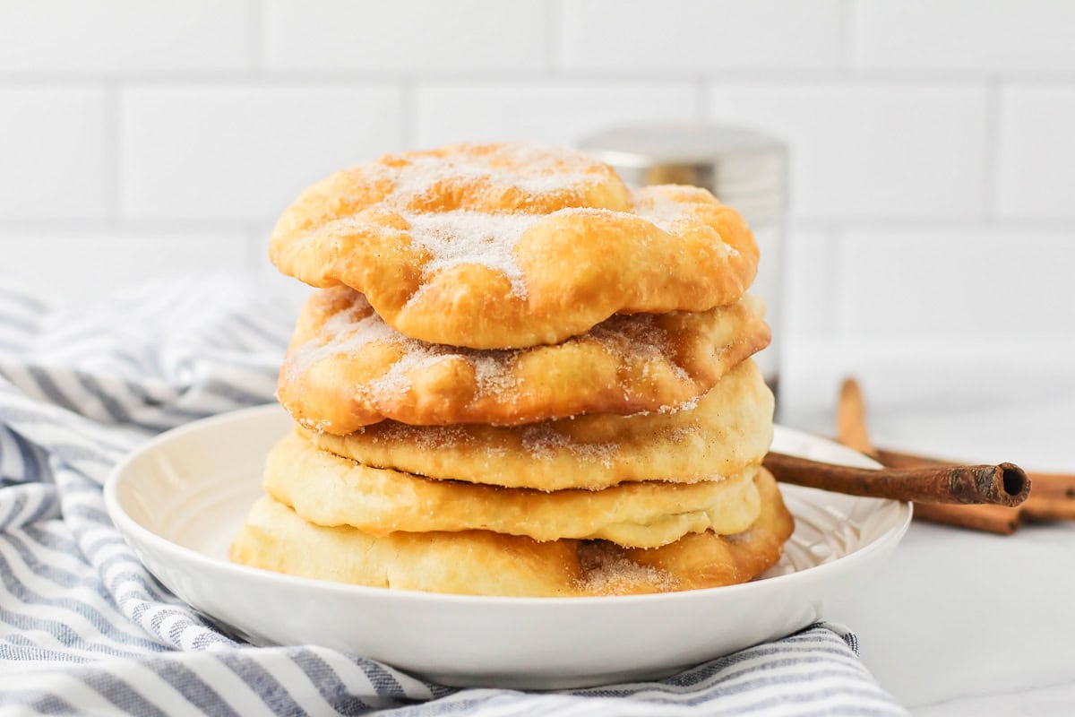
[(250, 2), (4, 2), (0, 4), (0, 71), (246, 68)]

